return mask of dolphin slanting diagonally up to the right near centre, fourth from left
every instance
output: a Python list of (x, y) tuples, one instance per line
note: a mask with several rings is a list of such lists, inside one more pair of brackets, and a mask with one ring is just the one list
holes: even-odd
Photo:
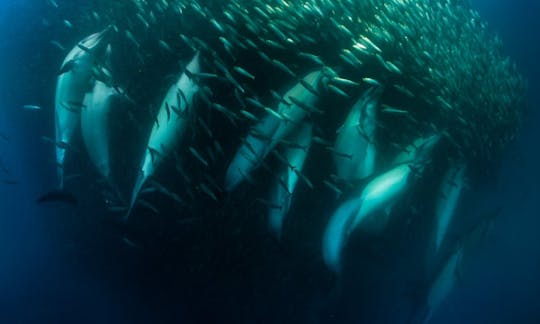
[(306, 116), (316, 112), (313, 89), (319, 88), (321, 76), (321, 70), (308, 73), (285, 93), (276, 111), (255, 125), (229, 164), (225, 190), (233, 191)]

